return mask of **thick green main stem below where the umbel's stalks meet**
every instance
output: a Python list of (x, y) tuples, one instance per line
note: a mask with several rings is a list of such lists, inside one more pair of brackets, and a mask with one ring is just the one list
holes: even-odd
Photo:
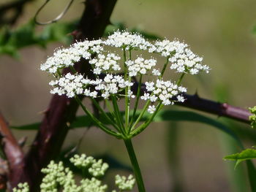
[(146, 190), (144, 187), (142, 175), (140, 173), (140, 166), (138, 164), (138, 161), (137, 161), (137, 158), (135, 155), (135, 151), (132, 146), (132, 140), (124, 139), (124, 144), (125, 144), (125, 147), (127, 147), (127, 152), (129, 154), (129, 160), (132, 163), (133, 172), (135, 174), (135, 179), (136, 179), (137, 185), (138, 185), (138, 191), (145, 192)]

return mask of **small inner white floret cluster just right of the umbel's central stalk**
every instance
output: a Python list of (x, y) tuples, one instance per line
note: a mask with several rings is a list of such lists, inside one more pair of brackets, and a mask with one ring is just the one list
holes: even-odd
[(126, 61), (125, 64), (128, 66), (129, 76), (133, 77), (136, 76), (138, 73), (146, 74), (148, 70), (152, 69), (153, 66), (156, 66), (157, 60), (151, 59), (144, 59), (142, 57), (138, 57), (135, 61)]

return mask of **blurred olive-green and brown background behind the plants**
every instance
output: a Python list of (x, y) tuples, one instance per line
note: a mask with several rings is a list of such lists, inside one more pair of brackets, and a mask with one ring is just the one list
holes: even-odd
[[(7, 0), (2, 0), (0, 5), (5, 2)], [(43, 2), (38, 0), (28, 4), (15, 28), (27, 23)], [(56, 17), (67, 2), (50, 1), (39, 20)], [(203, 55), (204, 64), (212, 69), (210, 74), (200, 77), (187, 76), (184, 85), (188, 87), (188, 93), (197, 91), (203, 98), (247, 108), (255, 105), (256, 93), (256, 34), (252, 32), (256, 26), (255, 8), (256, 1), (253, 0), (119, 0), (111, 21), (186, 42), (195, 53)], [(60, 22), (79, 18), (82, 12), (82, 1), (77, 0)], [(38, 31), (42, 28), (39, 26)], [(39, 65), (60, 45), (50, 44), (46, 49), (26, 47), (20, 50), (20, 59), (0, 55), (0, 110), (10, 125), (42, 119), (42, 111), (47, 109), (51, 95), (50, 77), (39, 71)], [(238, 126), (244, 125), (239, 123)], [(70, 131), (64, 146), (75, 145), (84, 132), (84, 129)], [(18, 139), (28, 137), (25, 150), (34, 134), (35, 131), (15, 131)], [(177, 142), (172, 143), (170, 137), (174, 135)], [(219, 130), (200, 123), (152, 123), (134, 139), (147, 191), (171, 191), (180, 182), (180, 191), (247, 191), (246, 187), (236, 187), (237, 183), (230, 182), (228, 177), (227, 166), (231, 163), (222, 160), (228, 155), (228, 139)], [(246, 141), (245, 144), (255, 145)], [(178, 154), (170, 153), (172, 146)], [(79, 152), (89, 155), (108, 153), (129, 164), (121, 141), (97, 128), (86, 132)], [(175, 166), (170, 164), (172, 154), (178, 155)], [(175, 169), (178, 169), (178, 175), (173, 175), (177, 172)], [(246, 185), (246, 181), (242, 182)]]

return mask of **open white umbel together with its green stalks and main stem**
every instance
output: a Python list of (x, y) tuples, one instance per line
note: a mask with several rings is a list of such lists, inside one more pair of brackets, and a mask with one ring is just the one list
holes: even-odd
[[(165, 63), (159, 64), (157, 57), (164, 58)], [(76, 71), (74, 65), (81, 58), (90, 65), (91, 77)], [(185, 101), (182, 93), (187, 88), (181, 81), (185, 74), (208, 73), (210, 68), (202, 61), (203, 58), (192, 53), (184, 42), (167, 39), (149, 42), (140, 34), (115, 31), (107, 39), (76, 42), (56, 50), (40, 69), (56, 78), (49, 83), (53, 87), (50, 93), (75, 98), (95, 125), (124, 140), (141, 192), (145, 187), (131, 139), (148, 127), (162, 107)], [(69, 68), (69, 72), (61, 73), (64, 68)], [(165, 77), (167, 70), (174, 70), (180, 76), (170, 80)], [(83, 104), (83, 97), (91, 99), (110, 126)], [(107, 111), (99, 104), (99, 99), (105, 102)], [(143, 104), (143, 108), (138, 115), (139, 104)], [(150, 117), (140, 123), (146, 112)]]

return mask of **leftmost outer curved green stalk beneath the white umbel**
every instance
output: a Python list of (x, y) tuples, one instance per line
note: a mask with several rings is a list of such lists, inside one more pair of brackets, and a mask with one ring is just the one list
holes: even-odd
[(82, 107), (83, 111), (86, 112), (86, 114), (91, 118), (91, 120), (94, 121), (94, 123), (99, 126), (99, 128), (102, 129), (102, 131), (105, 131), (107, 134), (110, 134), (114, 137), (118, 137), (121, 138), (121, 134), (116, 133), (116, 131), (112, 131), (110, 128), (108, 128), (107, 126), (105, 126), (102, 122), (100, 122), (99, 120), (97, 120), (97, 118), (94, 117), (93, 114), (91, 114), (91, 112), (89, 112), (89, 110), (86, 109), (86, 107), (82, 104), (82, 102), (80, 101), (80, 99), (78, 98), (78, 96), (75, 96), (75, 100), (78, 101), (78, 104), (80, 104), (80, 106)]

